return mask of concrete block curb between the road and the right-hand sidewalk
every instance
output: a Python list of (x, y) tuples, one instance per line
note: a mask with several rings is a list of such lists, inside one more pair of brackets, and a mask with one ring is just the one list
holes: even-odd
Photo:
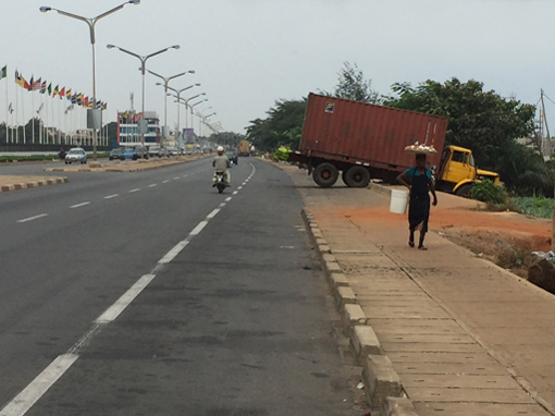
[[(378, 186), (387, 194), (390, 189)], [(383, 355), (380, 341), (372, 327), (368, 326), (368, 317), (358, 305), (357, 296), (350, 287), (347, 278), (333, 255), (328, 242), (313, 216), (304, 208), (300, 212), (311, 243), (316, 246), (322, 261), (328, 282), (341, 315), (343, 332), (349, 338), (354, 355), (362, 367), (362, 379), (366, 394), (374, 411), (382, 416), (418, 416), (412, 402), (398, 397), (403, 394), (400, 379), (390, 358)], [(408, 404), (407, 404), (408, 403)]]

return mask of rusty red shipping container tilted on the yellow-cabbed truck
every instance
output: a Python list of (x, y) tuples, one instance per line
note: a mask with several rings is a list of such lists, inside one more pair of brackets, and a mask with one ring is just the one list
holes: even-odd
[(310, 169), (326, 162), (344, 172), (361, 166), (372, 178), (390, 180), (415, 166), (415, 156), (404, 151), (415, 143), (433, 145), (437, 155), (428, 160), (439, 164), (447, 122), (443, 117), (310, 94), (299, 150), (289, 160)]

